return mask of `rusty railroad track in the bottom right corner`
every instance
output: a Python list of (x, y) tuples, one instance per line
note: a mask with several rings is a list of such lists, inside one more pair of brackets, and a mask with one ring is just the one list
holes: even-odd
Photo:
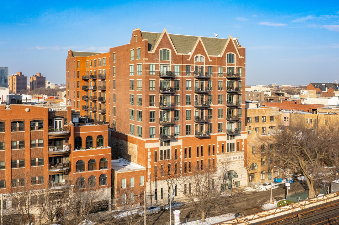
[(339, 225), (339, 201), (299, 210), (252, 225)]

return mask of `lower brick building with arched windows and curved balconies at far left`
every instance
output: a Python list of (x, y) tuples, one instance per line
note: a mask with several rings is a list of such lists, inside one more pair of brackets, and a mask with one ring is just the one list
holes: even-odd
[(70, 106), (20, 100), (9, 95), (7, 104), (0, 104), (0, 193), (5, 208), (12, 207), (11, 193), (23, 186), (63, 191), (71, 185), (103, 189), (102, 200), (110, 208), (108, 125), (82, 123)]

